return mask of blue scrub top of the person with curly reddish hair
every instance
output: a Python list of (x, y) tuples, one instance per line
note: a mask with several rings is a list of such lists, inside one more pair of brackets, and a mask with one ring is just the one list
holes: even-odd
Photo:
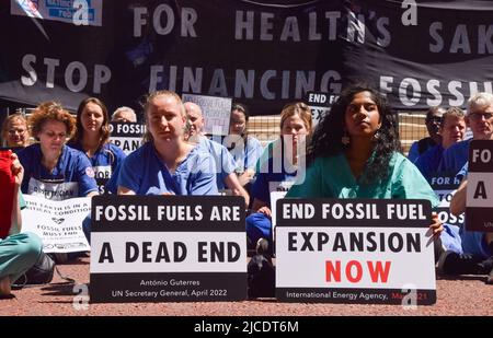
[(84, 153), (64, 145), (51, 173), (41, 164), (42, 159), (39, 143), (32, 144), (19, 153), (19, 160), (24, 166), (22, 193), (64, 200), (85, 197), (89, 193), (98, 191), (94, 171)]

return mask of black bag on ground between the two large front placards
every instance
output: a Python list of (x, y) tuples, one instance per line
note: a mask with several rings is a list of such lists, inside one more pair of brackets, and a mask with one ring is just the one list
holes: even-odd
[(250, 299), (276, 296), (276, 270), (271, 257), (254, 255), (249, 261), (246, 273)]

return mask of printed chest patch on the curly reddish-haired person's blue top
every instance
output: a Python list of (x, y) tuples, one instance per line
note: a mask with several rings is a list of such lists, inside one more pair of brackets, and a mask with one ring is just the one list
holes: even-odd
[(53, 183), (31, 177), (27, 195), (41, 196), (50, 200), (65, 200), (79, 197), (77, 182)]

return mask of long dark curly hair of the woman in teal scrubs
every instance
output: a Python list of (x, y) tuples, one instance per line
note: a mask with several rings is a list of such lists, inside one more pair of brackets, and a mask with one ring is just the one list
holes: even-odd
[(378, 182), (389, 175), (389, 162), (394, 151), (401, 151), (399, 130), (395, 118), (387, 100), (367, 84), (355, 84), (346, 88), (333, 104), (330, 114), (325, 115), (317, 126), (308, 149), (308, 163), (320, 156), (333, 156), (347, 148), (342, 142), (345, 132), (345, 113), (354, 96), (360, 92), (369, 92), (377, 104), (381, 127), (375, 137), (374, 155), (368, 159), (362, 183)]

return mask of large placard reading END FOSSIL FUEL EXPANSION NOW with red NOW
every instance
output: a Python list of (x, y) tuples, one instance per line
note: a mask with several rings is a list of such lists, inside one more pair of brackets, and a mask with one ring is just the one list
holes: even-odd
[(277, 299), (434, 304), (431, 214), (426, 200), (278, 200)]

